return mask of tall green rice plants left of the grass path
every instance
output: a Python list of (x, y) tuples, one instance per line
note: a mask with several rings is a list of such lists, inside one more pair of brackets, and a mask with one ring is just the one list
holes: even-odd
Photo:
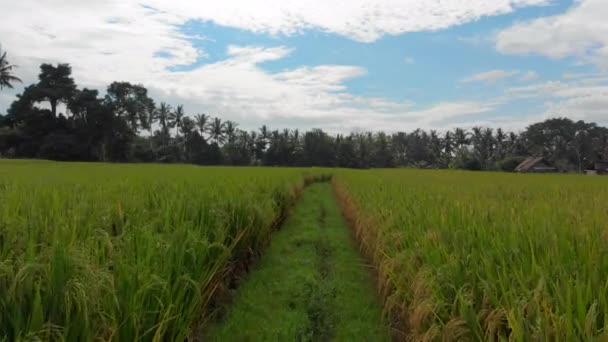
[(302, 170), (0, 161), (0, 340), (184, 340)]

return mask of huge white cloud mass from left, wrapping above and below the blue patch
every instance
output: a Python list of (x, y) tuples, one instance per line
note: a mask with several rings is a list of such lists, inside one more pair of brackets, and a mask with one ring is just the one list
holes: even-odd
[[(0, 0), (3, 1), (3, 0)], [(6, 1), (6, 0), (4, 0)], [(191, 113), (208, 112), (243, 126), (322, 124), (345, 131), (429, 127), (438, 120), (486, 112), (495, 104), (445, 102), (418, 108), (409, 101), (354, 96), (345, 82), (365, 75), (357, 66), (302, 66), (268, 73), (259, 64), (285, 58), (285, 46), (229, 46), (227, 59), (190, 71), (206, 56), (179, 26), (212, 21), (254, 32), (297, 34), (319, 29), (371, 42), (383, 35), (436, 30), (510, 13), (548, 0), (20, 0), (4, 4), (0, 37), (25, 84), (43, 62), (67, 62), (83, 87), (103, 89), (115, 80), (142, 83), (158, 100), (184, 103)], [(35, 10), (34, 10), (35, 9)], [(231, 42), (222, 42), (230, 44)], [(0, 110), (9, 100), (0, 97)], [(386, 122), (387, 124), (384, 124)]]

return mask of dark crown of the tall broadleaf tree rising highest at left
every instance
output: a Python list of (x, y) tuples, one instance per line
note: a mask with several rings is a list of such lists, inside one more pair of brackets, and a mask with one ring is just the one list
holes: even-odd
[(41, 101), (48, 101), (53, 116), (57, 116), (57, 105), (68, 104), (74, 97), (76, 84), (69, 64), (42, 64), (36, 85), (36, 94)]

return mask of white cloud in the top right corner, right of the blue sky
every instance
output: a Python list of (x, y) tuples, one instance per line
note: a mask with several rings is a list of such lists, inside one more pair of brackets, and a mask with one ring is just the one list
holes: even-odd
[(579, 57), (608, 68), (608, 1), (577, 0), (566, 13), (517, 23), (496, 35), (503, 53)]

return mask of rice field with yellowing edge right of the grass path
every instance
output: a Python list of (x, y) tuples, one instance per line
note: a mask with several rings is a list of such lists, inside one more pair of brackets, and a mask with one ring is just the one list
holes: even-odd
[(608, 178), (341, 171), (408, 340), (608, 338)]

